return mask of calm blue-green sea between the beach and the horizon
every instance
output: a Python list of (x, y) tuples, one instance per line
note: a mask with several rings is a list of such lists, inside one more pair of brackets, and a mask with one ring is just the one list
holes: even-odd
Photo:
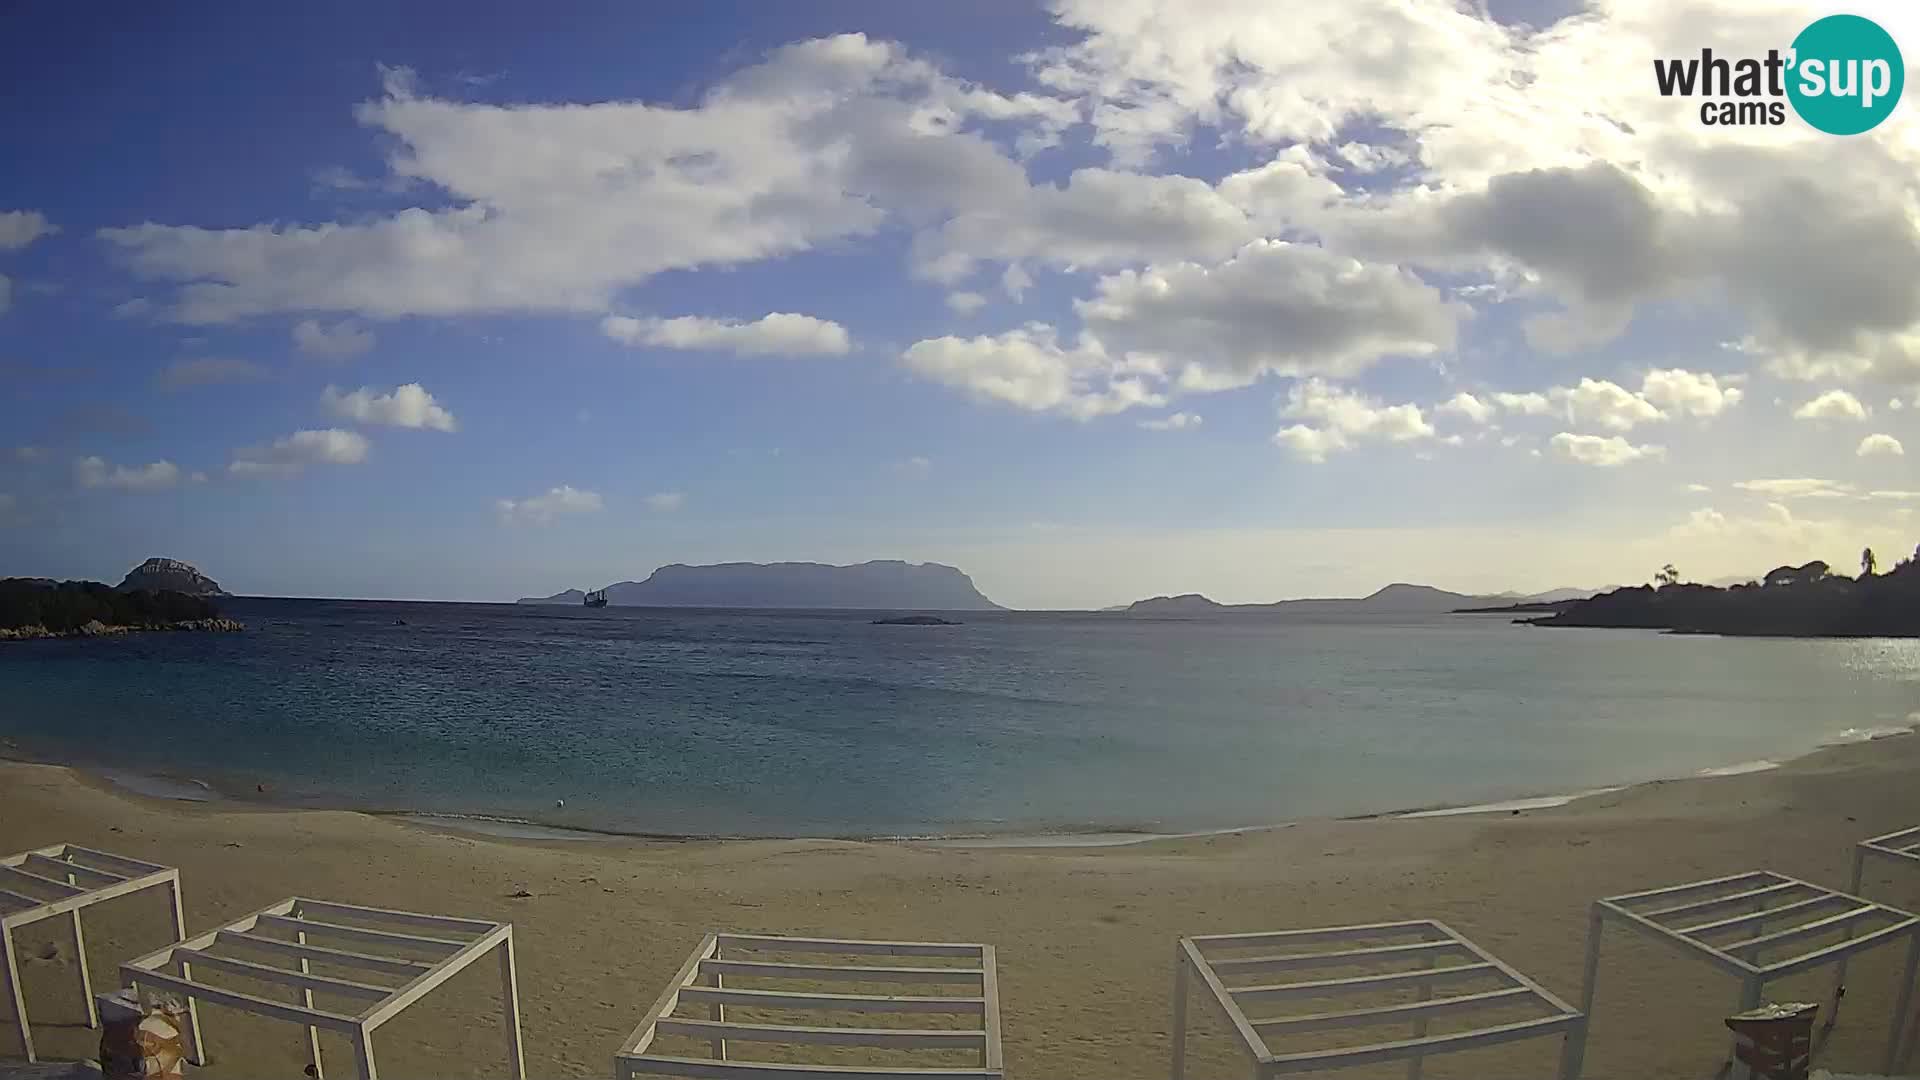
[(1548, 805), (1920, 721), (1916, 640), (221, 603), (244, 632), (0, 646), (0, 753), (526, 836), (1004, 840)]

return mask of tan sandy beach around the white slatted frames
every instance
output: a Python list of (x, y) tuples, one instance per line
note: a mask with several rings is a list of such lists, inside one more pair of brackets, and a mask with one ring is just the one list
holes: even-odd
[[(336, 811), (157, 801), (67, 769), (0, 763), (0, 851), (73, 842), (180, 867), (188, 932), (284, 896), (515, 924), (530, 1076), (607, 1076), (612, 1051), (710, 928), (998, 947), (1006, 1074), (1167, 1074), (1179, 934), (1440, 919), (1576, 1001), (1594, 897), (1749, 869), (1843, 888), (1851, 846), (1920, 824), (1920, 738), (1832, 748), (1768, 773), (1642, 784), (1563, 807), (1309, 821), (1119, 847), (964, 849), (856, 842), (520, 842)], [(513, 897), (515, 892), (532, 897)], [(1870, 867), (1864, 892), (1920, 909), (1920, 871)], [(165, 901), (88, 911), (98, 988), (169, 938)], [(46, 1057), (92, 1055), (61, 920), (23, 934)], [(1832, 1042), (1836, 1070), (1880, 1065), (1903, 949), (1868, 953)], [(1830, 972), (1770, 988), (1824, 1001)], [(284, 994), (284, 992), (282, 992)], [(1609, 930), (1588, 1076), (1711, 1076), (1738, 986)], [(482, 963), (376, 1034), (382, 1076), (503, 1076), (497, 972)], [(1188, 1076), (1246, 1076), (1194, 999)], [(298, 1028), (207, 1007), (217, 1078), (300, 1076)], [(330, 1072), (351, 1070), (338, 1040)], [(0, 1024), (0, 1055), (15, 1055)], [(1559, 1040), (1432, 1059), (1428, 1078), (1551, 1076)], [(1342, 1076), (1404, 1076), (1404, 1067)]]

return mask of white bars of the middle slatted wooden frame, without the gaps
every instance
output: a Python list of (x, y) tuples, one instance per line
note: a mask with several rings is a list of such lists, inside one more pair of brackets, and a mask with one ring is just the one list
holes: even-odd
[[(726, 953), (726, 955), (724, 955)], [(766, 955), (820, 957), (948, 957), (972, 961), (966, 967), (891, 967), (829, 963), (766, 963)], [(781, 986), (808, 984), (810, 990), (745, 990), (728, 976), (780, 980)], [(824, 982), (866, 982), (958, 986), (966, 995), (872, 995), (820, 992)], [(680, 1003), (705, 1003), (710, 1019), (676, 1019)], [(833, 1028), (728, 1022), (726, 1007), (762, 1007), (824, 1013), (943, 1013), (977, 1017), (977, 1026), (916, 1028)], [(676, 1057), (653, 1051), (655, 1036), (697, 1036), (708, 1040), (710, 1057)], [(814, 1043), (854, 1047), (970, 1049), (979, 1063), (964, 1068), (937, 1067), (839, 1067), (781, 1065), (732, 1057), (735, 1042)], [(1000, 1080), (1000, 986), (993, 945), (948, 942), (847, 942), (824, 938), (776, 938), (766, 934), (707, 934), (680, 974), (647, 1011), (612, 1059), (616, 1080), (636, 1076), (687, 1076), (726, 1080), (804, 1080), (858, 1076), (860, 1080)]]

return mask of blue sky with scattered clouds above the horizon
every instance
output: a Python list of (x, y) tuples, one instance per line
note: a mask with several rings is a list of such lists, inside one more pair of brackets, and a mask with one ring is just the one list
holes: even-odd
[(10, 6), (0, 575), (897, 557), (1100, 607), (1887, 565), (1920, 104), (1709, 127), (1651, 69), (1832, 10)]

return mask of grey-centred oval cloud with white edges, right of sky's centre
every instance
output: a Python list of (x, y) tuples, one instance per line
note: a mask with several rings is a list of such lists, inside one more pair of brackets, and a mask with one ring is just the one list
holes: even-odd
[(1102, 340), (1177, 361), (1185, 390), (1354, 377), (1388, 356), (1452, 350), (1465, 315), (1404, 269), (1286, 240), (1256, 240), (1217, 265), (1108, 275), (1073, 307)]

